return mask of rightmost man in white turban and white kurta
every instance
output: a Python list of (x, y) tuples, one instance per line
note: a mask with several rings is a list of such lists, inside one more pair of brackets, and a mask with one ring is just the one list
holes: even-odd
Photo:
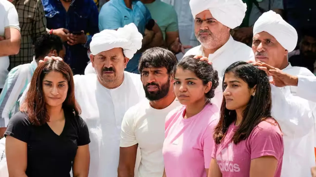
[[(262, 14), (253, 26), (253, 34), (252, 50), (255, 60), (267, 64), (264, 66), (271, 70), (270, 75), (276, 86), (280, 79), (284, 79), (276, 76), (275, 71), (279, 69), (293, 76), (315, 77), (307, 68), (293, 67), (288, 62), (287, 55), (297, 44), (297, 32), (279, 14), (273, 11)], [(283, 110), (283, 115), (275, 116), (283, 131), (284, 155), (281, 176), (311, 176), (310, 168), (315, 166), (315, 117), (312, 114), (315, 111), (315, 103), (299, 97), (298, 87), (285, 86), (280, 90), (294, 106), (294, 109), (282, 109), (281, 107), (286, 104), (281, 105), (280, 101), (272, 100), (273, 107)], [(273, 94), (275, 92), (272, 89)], [(279, 121), (280, 117), (283, 118), (282, 121)], [(285, 124), (284, 118), (295, 126)]]

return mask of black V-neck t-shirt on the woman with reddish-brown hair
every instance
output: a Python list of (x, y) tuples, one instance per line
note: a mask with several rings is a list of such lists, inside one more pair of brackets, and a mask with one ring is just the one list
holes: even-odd
[(90, 143), (87, 124), (80, 116), (65, 111), (65, 126), (58, 136), (47, 123), (35, 126), (27, 115), (11, 117), (4, 135), (27, 143), (28, 177), (69, 177), (78, 146)]

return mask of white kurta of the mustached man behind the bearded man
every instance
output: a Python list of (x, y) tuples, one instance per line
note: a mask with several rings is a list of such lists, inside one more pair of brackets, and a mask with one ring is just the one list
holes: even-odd
[(90, 177), (117, 177), (121, 123), (125, 112), (145, 98), (140, 75), (124, 72), (124, 82), (103, 87), (95, 74), (75, 75), (75, 96), (89, 129)]

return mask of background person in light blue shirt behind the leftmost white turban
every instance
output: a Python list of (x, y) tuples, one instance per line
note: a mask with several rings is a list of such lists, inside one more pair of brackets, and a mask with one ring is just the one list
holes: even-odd
[(159, 26), (152, 19), (146, 6), (137, 0), (110, 0), (102, 6), (99, 15), (99, 30), (117, 30), (134, 23), (143, 35), (142, 48), (128, 62), (125, 71), (138, 73), (138, 61), (142, 51), (164, 45)]

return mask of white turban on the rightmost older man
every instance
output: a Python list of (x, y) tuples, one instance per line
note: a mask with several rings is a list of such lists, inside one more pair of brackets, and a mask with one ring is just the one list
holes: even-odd
[(253, 26), (253, 35), (265, 31), (276, 38), (282, 47), (292, 52), (297, 43), (297, 32), (281, 15), (272, 10), (263, 13)]

